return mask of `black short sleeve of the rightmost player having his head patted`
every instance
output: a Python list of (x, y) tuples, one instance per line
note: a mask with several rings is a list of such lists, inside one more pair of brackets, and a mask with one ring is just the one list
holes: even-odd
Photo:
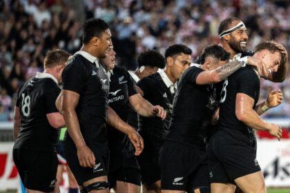
[(255, 74), (255, 72), (250, 68), (244, 68), (237, 75), (238, 93), (247, 94), (255, 100), (255, 95), (259, 85), (259, 82), (257, 81), (258, 79), (256, 78), (257, 74)]

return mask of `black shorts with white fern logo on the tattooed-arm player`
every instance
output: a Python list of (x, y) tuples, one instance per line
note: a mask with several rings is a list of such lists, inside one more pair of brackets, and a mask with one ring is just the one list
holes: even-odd
[(166, 141), (160, 152), (161, 189), (195, 190), (209, 187), (206, 151)]

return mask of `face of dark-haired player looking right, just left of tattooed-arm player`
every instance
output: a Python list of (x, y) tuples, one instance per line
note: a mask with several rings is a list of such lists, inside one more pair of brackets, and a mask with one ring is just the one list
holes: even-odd
[(173, 57), (173, 65), (171, 67), (171, 74), (174, 79), (179, 79), (183, 72), (191, 65), (191, 55), (179, 54)]

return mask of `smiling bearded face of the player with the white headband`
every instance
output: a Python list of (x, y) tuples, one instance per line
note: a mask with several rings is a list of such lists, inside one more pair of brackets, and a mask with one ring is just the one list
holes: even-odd
[[(232, 25), (229, 28), (233, 28), (240, 21), (233, 21)], [(242, 53), (247, 49), (248, 34), (247, 28), (239, 28), (229, 34), (229, 46), (236, 53)]]

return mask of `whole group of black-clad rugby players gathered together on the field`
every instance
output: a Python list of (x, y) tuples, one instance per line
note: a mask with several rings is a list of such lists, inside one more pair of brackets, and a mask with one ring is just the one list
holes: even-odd
[(13, 159), (28, 192), (59, 192), (55, 145), (64, 126), (80, 192), (267, 192), (254, 130), (282, 136), (260, 118), (282, 103), (282, 92), (258, 103), (260, 78), (286, 77), (282, 45), (247, 50), (247, 28), (231, 17), (218, 28), (220, 45), (195, 61), (175, 44), (164, 56), (142, 52), (133, 72), (115, 64), (106, 22), (83, 27), (78, 52), (48, 52), (44, 71), (19, 88)]

